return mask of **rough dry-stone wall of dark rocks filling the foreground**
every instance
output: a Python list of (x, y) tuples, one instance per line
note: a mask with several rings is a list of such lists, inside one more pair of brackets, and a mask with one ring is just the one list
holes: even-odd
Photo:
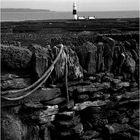
[[(120, 56), (127, 52), (118, 49), (116, 53), (113, 48), (115, 43), (114, 39), (102, 37), (94, 43), (85, 41), (80, 46), (81, 50), (86, 49), (84, 52), (80, 51), (79, 45), (71, 48), (65, 46), (57, 67), (38, 90), (22, 100), (8, 101), (2, 98), (2, 140), (139, 139), (139, 80), (135, 77), (136, 65), (130, 59), (125, 63), (127, 56)], [(132, 44), (129, 43), (131, 47)], [(9, 47), (10, 51), (18, 50), (12, 47)], [(128, 44), (123, 47), (128, 47)], [(20, 48), (23, 51), (20, 57), (9, 57), (13, 52), (9, 49), (2, 53), (2, 63), (7, 66), (24, 69), (30, 64), (33, 69), (28, 76), (10, 73), (10, 69), (7, 74), (2, 74), (2, 92), (30, 86), (34, 78), (41, 77), (51, 65), (59, 49), (57, 45), (55, 51), (50, 46), (42, 49), (41, 46), (32, 45), (30, 48)], [(138, 63), (134, 54), (129, 57)], [(66, 57), (69, 101), (64, 80)], [(35, 65), (29, 63), (31, 59)], [(119, 68), (116, 62), (120, 62)], [(7, 94), (5, 96), (17, 96), (14, 92)]]

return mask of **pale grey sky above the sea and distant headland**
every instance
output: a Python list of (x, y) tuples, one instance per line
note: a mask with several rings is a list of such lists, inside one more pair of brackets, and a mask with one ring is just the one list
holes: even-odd
[(77, 3), (78, 11), (139, 10), (139, 0), (1, 0), (1, 8), (71, 11), (74, 1)]

